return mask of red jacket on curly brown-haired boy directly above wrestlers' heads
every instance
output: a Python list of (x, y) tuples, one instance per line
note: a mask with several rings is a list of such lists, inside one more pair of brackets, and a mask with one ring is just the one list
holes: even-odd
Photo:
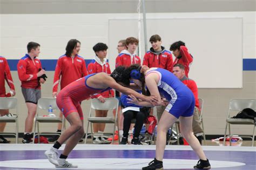
[(132, 64), (140, 64), (140, 58), (136, 54), (131, 55), (127, 50), (121, 51), (116, 58), (116, 67), (120, 65), (129, 67)]

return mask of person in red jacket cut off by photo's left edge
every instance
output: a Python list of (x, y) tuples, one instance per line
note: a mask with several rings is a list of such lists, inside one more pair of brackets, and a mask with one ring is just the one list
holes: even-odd
[[(11, 77), (11, 72), (9, 65), (7, 63), (7, 60), (0, 56), (0, 97), (10, 97), (15, 96), (15, 87), (14, 87), (14, 81)], [(6, 83), (10, 87), (10, 93), (5, 94), (5, 83), (4, 80), (6, 80)], [(0, 116), (6, 116), (9, 117), (11, 114), (9, 113), (9, 110), (0, 110)], [(4, 128), (6, 126), (6, 123), (0, 123), (0, 133), (4, 132)], [(0, 135), (0, 144), (8, 144), (10, 143), (9, 140), (5, 139), (3, 135)]]

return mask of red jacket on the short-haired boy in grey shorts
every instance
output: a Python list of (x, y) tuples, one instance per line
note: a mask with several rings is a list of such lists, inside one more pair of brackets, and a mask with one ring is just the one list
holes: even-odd
[(39, 59), (36, 57), (32, 60), (28, 54), (22, 57), (18, 64), (18, 76), (21, 80), (22, 87), (25, 89), (41, 89), (41, 85), (37, 79), (37, 73), (42, 69)]

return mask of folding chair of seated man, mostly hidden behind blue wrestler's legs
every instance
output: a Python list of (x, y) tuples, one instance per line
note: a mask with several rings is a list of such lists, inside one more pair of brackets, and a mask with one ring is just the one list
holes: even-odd
[[(205, 143), (205, 130), (204, 130), (204, 123), (203, 123), (203, 106), (204, 106), (204, 100), (201, 99), (201, 98), (198, 98), (199, 100), (199, 110), (200, 110), (200, 114), (199, 114), (199, 121), (201, 123), (201, 127), (203, 129), (203, 136), (204, 136), (204, 145), (206, 145)], [(175, 123), (175, 127), (176, 127), (176, 131), (173, 130), (172, 128), (172, 134), (173, 134), (173, 137), (177, 138), (177, 143), (179, 145), (179, 138), (182, 137), (182, 135), (180, 134), (179, 132), (179, 128), (178, 128), (178, 125), (179, 125), (179, 120), (176, 121)], [(171, 138), (170, 138), (171, 139)], [(169, 140), (169, 144), (170, 144), (170, 140)]]

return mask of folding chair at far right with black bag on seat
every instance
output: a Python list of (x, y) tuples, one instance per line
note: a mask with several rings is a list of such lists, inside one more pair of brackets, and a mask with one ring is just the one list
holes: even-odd
[[(231, 118), (231, 112), (235, 111), (236, 114), (240, 111), (242, 111), (244, 108), (252, 108), (252, 110), (256, 111), (256, 99), (231, 99), (230, 100), (230, 105), (228, 107), (228, 112), (227, 112), (227, 119), (226, 119), (226, 128), (225, 128), (225, 134), (224, 134), (224, 144), (226, 141), (226, 133), (227, 133), (227, 126), (228, 126), (228, 131), (230, 134), (230, 139), (232, 138), (233, 135), (231, 135), (231, 129), (230, 125), (253, 125), (253, 133), (252, 137), (251, 136), (246, 136), (246, 135), (240, 135), (240, 137), (245, 137), (245, 138), (251, 138), (252, 139), (252, 146), (254, 146), (254, 137), (255, 137), (255, 121), (253, 119), (235, 119)], [(231, 142), (230, 142), (231, 146)]]

